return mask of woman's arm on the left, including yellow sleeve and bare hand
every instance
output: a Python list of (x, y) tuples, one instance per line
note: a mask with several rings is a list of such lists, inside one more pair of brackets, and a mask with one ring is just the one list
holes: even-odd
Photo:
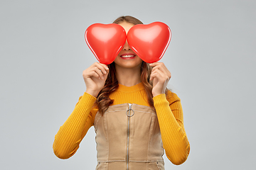
[(65, 121), (53, 142), (53, 151), (60, 159), (68, 159), (78, 150), (82, 138), (93, 125), (97, 108), (92, 108), (109, 72), (105, 64), (95, 62), (82, 72), (86, 91)]

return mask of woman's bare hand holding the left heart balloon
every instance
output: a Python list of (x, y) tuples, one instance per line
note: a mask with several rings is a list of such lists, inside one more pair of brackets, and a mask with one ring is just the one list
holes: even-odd
[(90, 67), (82, 72), (82, 77), (85, 80), (86, 93), (97, 97), (101, 89), (105, 85), (107, 74), (110, 69), (105, 64), (95, 62)]

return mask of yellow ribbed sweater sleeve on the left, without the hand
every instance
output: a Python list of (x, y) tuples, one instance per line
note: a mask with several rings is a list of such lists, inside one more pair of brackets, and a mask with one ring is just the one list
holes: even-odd
[(53, 152), (60, 159), (68, 159), (78, 150), (82, 138), (93, 125), (92, 107), (96, 98), (83, 94), (79, 98), (73, 113), (60, 127), (53, 142)]

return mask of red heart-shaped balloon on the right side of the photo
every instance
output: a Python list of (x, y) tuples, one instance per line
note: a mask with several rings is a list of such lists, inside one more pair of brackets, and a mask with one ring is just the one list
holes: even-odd
[(138, 24), (129, 29), (127, 42), (144, 62), (158, 62), (171, 40), (171, 29), (165, 23)]

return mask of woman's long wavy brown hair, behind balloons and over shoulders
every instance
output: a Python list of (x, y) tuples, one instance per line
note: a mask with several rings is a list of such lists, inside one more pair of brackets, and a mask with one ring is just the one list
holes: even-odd
[[(132, 16), (121, 16), (117, 18), (113, 23), (133, 23), (134, 25), (137, 24), (143, 24), (142, 21), (139, 21), (137, 18), (134, 18)], [(105, 86), (102, 88), (100, 93), (97, 96), (97, 107), (99, 109), (100, 113), (104, 113), (107, 111), (107, 108), (114, 102), (114, 100), (110, 99), (110, 94), (112, 92), (116, 91), (118, 88), (118, 81), (116, 77), (116, 69), (114, 66), (114, 62), (108, 65), (110, 72), (107, 75), (107, 79), (105, 81)], [(144, 89), (146, 91), (147, 101), (149, 103), (149, 106), (155, 110), (154, 108), (154, 101), (153, 101), (153, 95), (152, 95), (152, 89), (153, 89), (153, 83), (150, 81), (150, 74), (151, 74), (152, 68), (149, 66), (149, 63), (142, 62), (141, 67), (141, 81), (144, 86)], [(167, 94), (167, 90), (166, 90)]]

